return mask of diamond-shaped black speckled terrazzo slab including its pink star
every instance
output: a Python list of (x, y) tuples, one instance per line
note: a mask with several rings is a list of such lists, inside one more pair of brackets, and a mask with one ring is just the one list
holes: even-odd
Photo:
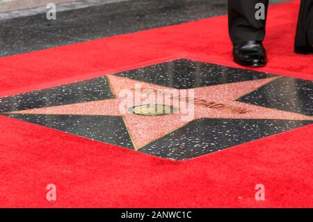
[[(138, 84), (152, 91), (193, 93), (193, 115), (186, 119), (180, 112), (165, 116), (124, 112), (121, 92)], [(157, 157), (185, 160), (310, 125), (312, 101), (312, 81), (178, 59), (3, 97), (0, 113)]]

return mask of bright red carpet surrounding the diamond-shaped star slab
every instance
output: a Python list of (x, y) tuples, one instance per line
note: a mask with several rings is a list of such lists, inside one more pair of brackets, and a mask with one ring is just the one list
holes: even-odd
[[(259, 70), (313, 80), (313, 56), (293, 52), (298, 5), (269, 9), (269, 62)], [(0, 96), (168, 58), (236, 66), (231, 50), (223, 16), (9, 56)], [(0, 116), (0, 207), (313, 207), (312, 136), (311, 125), (174, 162)]]

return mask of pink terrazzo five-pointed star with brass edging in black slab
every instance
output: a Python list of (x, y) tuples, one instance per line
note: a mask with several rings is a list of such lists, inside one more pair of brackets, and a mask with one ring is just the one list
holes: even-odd
[[(188, 122), (199, 118), (313, 120), (313, 117), (311, 116), (268, 109), (262, 106), (235, 101), (239, 99), (239, 97), (260, 88), (271, 81), (275, 81), (275, 79), (278, 79), (279, 77), (185, 90), (186, 95), (192, 95), (192, 93), (194, 93), (195, 99), (194, 113), (189, 119), (186, 119), (186, 113), (182, 113), (181, 111), (165, 116), (140, 116), (128, 112), (128, 109), (132, 106), (125, 106), (124, 108), (120, 107), (120, 104), (125, 103), (125, 94), (123, 94), (123, 92), (127, 92), (127, 90), (128, 92), (134, 92), (134, 88), (138, 86), (136, 84), (140, 84), (142, 89), (171, 90), (179, 95), (182, 90), (159, 86), (157, 84), (148, 84), (142, 81), (135, 81), (115, 75), (108, 75), (106, 77), (111, 84), (111, 89), (115, 95), (114, 99), (13, 111), (10, 113), (123, 116), (123, 120), (125, 121), (125, 125), (127, 126), (127, 130), (136, 150), (147, 145), (147, 143), (151, 143), (152, 141), (183, 127)], [(193, 92), (190, 90), (193, 90)], [(143, 95), (143, 97), (145, 97), (145, 95)], [(134, 106), (143, 104), (143, 97), (141, 97), (141, 100), (136, 100), (134, 98), (131, 102)], [(145, 103), (155, 102), (152, 101), (153, 98), (147, 96), (144, 99)], [(172, 100), (164, 102), (163, 104), (171, 105)]]

